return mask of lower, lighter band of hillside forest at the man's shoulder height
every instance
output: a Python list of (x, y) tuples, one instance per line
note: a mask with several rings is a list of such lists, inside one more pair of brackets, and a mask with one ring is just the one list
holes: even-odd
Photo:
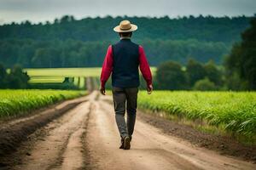
[[(0, 40), (0, 61), (7, 67), (20, 64), (25, 68), (95, 67), (102, 66), (111, 42), (82, 42), (77, 40), (52, 40), (38, 42), (31, 39)], [(189, 58), (201, 62), (209, 59), (221, 63), (230, 46), (224, 42), (199, 42), (197, 40), (143, 41), (150, 65), (165, 60), (185, 64)]]

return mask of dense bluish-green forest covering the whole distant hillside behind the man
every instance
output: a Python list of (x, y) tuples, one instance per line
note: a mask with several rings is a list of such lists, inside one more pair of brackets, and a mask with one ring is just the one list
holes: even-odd
[(119, 40), (113, 26), (125, 19), (139, 27), (133, 41), (143, 45), (150, 65), (159, 65), (170, 59), (181, 64), (189, 59), (222, 63), (232, 43), (241, 41), (239, 35), (252, 17), (107, 16), (75, 20), (66, 15), (53, 23), (6, 24), (0, 26), (0, 62), (7, 67), (100, 66), (108, 45)]

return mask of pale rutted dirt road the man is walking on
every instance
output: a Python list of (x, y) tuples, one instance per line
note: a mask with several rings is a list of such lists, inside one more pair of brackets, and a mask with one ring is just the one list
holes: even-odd
[(162, 133), (137, 120), (131, 150), (119, 150), (108, 96), (90, 94), (21, 144), (11, 169), (255, 169), (256, 165)]

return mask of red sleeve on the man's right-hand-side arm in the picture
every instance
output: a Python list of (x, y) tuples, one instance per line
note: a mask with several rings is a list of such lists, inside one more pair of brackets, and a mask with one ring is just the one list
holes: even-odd
[(143, 77), (145, 81), (147, 82), (147, 85), (152, 84), (152, 74), (148, 65), (148, 60), (146, 58), (144, 49), (142, 46), (139, 46), (139, 62), (140, 62), (140, 70), (143, 73)]

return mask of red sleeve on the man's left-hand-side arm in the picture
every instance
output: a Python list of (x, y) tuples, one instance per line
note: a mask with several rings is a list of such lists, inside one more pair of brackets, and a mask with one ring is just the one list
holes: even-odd
[(108, 81), (108, 78), (110, 77), (112, 71), (113, 71), (113, 53), (112, 53), (112, 46), (110, 45), (108, 47), (108, 51), (102, 65), (102, 74), (101, 74), (102, 88), (105, 87), (105, 83)]

